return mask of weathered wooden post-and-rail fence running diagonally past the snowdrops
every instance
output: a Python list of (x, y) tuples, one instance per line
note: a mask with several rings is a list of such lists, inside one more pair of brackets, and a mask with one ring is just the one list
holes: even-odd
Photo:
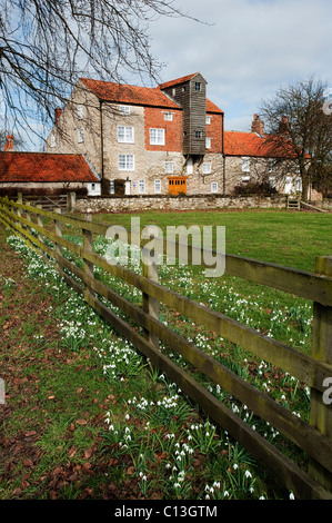
[[(44, 220), (48, 220), (47, 226), (44, 226)], [(51, 224), (54, 224), (53, 230), (50, 229), (50, 220)], [(306, 273), (225, 255), (225, 274), (281, 289), (313, 302), (312, 354), (308, 356), (163, 287), (158, 283), (158, 266), (155, 265), (143, 264), (142, 275), (120, 265), (110, 265), (105, 258), (92, 250), (93, 235), (105, 235), (110, 227), (109, 224), (93, 223), (88, 216), (82, 219), (73, 215), (62, 215), (60, 209), (50, 211), (8, 199), (0, 199), (0, 221), (37, 251), (41, 250), (48, 255), (68, 285), (83, 295), (91, 307), (144, 356), (150, 358), (152, 365), (173, 379), (184, 394), (245, 447), (273, 477), (293, 491), (296, 499), (332, 499), (332, 405), (323, 401), (326, 383), (331, 383), (332, 379), (332, 257), (318, 258), (316, 273)], [(68, 225), (82, 231), (82, 247), (62, 237), (61, 228)], [(46, 238), (54, 245), (54, 248), (46, 245)], [(132, 240), (133, 238), (129, 235), (129, 241)], [(80, 269), (63, 257), (62, 248), (69, 249), (82, 258), (83, 268)], [(175, 248), (179, 257), (181, 250), (179, 243), (175, 244)], [(143, 246), (142, 249), (144, 256)], [(194, 249), (194, 247), (189, 248), (188, 263), (191, 262)], [(142, 292), (142, 307), (133, 305), (95, 279), (93, 266), (98, 266), (140, 289)], [(69, 276), (64, 269), (68, 269), (76, 278)], [(143, 327), (144, 335), (139, 334), (129, 323), (105, 307), (100, 297), (107, 298), (119, 307), (130, 318), (130, 322)], [(266, 394), (258, 391), (245, 379), (159, 322), (160, 303), (249, 351), (256, 358), (270, 362), (305, 383), (311, 388), (310, 423), (301, 421)], [(254, 415), (269, 422), (302, 448), (309, 455), (308, 471), (296, 466), (185, 371), (168, 358), (159, 349), (159, 341), (181, 354), (199, 372), (204, 373), (215, 384), (245, 404)]]

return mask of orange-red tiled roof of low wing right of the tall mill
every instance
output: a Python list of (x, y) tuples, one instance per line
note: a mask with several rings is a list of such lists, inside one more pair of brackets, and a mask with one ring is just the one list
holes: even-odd
[[(269, 158), (295, 157), (290, 140), (282, 136), (269, 137), (255, 132), (224, 131), (224, 154), (227, 156), (255, 156)], [(310, 158), (306, 155), (306, 158)]]

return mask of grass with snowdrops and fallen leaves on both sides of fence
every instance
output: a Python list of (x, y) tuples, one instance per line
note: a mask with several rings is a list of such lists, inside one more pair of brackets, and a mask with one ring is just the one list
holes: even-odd
[[(329, 254), (331, 215), (189, 213), (144, 214), (141, 218), (142, 225), (155, 223), (163, 229), (171, 224), (225, 225), (228, 251), (306, 270), (313, 268), (315, 256)], [(130, 225), (130, 215), (94, 219)], [(73, 230), (68, 233), (80, 241)], [(6, 457), (0, 471), (1, 499), (289, 497), (237, 442), (201, 417), (173, 383), (119, 338), (57, 274), (14, 238), (9, 243), (21, 260), (17, 260), (13, 273), (1, 258), (0, 270), (0, 329), (7, 326), (0, 359), (6, 362), (9, 395), (2, 416)], [(104, 247), (103, 238), (95, 238), (94, 249), (102, 253)], [(16, 264), (10, 264), (12, 267)], [(110, 275), (97, 270), (95, 277), (140, 303), (140, 293), (132, 293)], [(160, 277), (163, 285), (181, 294), (301, 351), (310, 351), (312, 308), (304, 300), (239, 278), (224, 277), (215, 285), (197, 268), (165, 266)], [(23, 295), (21, 288), (26, 289)], [(292, 376), (266, 362), (255, 362), (241, 347), (167, 308), (161, 309), (160, 319), (308, 418), (310, 391)], [(168, 354), (179, 365), (187, 365), (179, 355)], [(16, 369), (17, 382), (11, 368)], [(192, 372), (189, 366), (188, 371)], [(306, 466), (305, 456), (288, 446), (273, 427), (254, 418), (245, 405), (238, 404), (219, 386), (205, 386)], [(30, 391), (29, 401), (24, 388)]]

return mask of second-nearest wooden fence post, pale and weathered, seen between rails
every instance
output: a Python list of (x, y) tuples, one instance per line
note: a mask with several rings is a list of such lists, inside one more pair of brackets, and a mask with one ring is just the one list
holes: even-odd
[[(152, 233), (153, 234), (153, 233)], [(142, 253), (142, 275), (152, 282), (158, 283), (158, 264), (151, 258), (154, 258), (155, 253), (151, 253), (149, 248), (141, 246)], [(155, 298), (149, 296), (149, 294), (142, 293), (142, 306), (144, 313), (148, 313), (152, 318), (159, 319), (159, 302)], [(159, 348), (159, 338), (155, 334), (144, 329), (144, 335), (157, 348)]]

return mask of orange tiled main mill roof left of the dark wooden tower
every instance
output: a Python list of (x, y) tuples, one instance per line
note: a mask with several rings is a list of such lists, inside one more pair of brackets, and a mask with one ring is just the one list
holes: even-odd
[(100, 100), (181, 109), (181, 107), (164, 95), (159, 87), (127, 86), (111, 81), (91, 80), (89, 78), (80, 78), (80, 80)]

